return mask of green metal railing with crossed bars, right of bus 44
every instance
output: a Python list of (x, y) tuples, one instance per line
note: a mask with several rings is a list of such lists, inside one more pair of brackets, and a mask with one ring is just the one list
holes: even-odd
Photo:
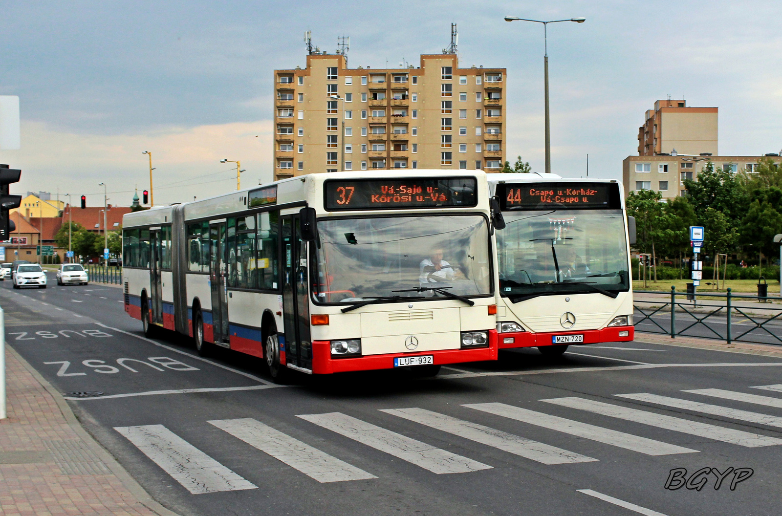
[[(671, 339), (687, 336), (728, 344), (782, 345), (782, 305), (773, 304), (782, 297), (734, 294), (730, 288), (724, 294), (697, 292), (694, 296), (676, 292), (675, 287), (670, 292), (643, 292), (665, 297), (633, 300), (636, 331), (670, 335)], [(764, 303), (749, 303), (751, 299)]]

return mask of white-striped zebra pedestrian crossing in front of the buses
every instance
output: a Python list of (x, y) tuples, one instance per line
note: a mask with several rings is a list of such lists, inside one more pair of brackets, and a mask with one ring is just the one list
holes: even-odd
[[(757, 385), (750, 389), (782, 393), (782, 384)], [(495, 464), (497, 455), (491, 455), (493, 459), (483, 458), (482, 455), (488, 449), (507, 453), (511, 462), (518, 459), (568, 468), (569, 464), (616, 460), (615, 456), (610, 455), (612, 449), (653, 457), (701, 451), (689, 447), (692, 443), (687, 443), (689, 446), (676, 443), (677, 435), (680, 434), (705, 439), (698, 441), (698, 448), (708, 446), (708, 442), (744, 448), (782, 445), (782, 432), (778, 430), (782, 428), (782, 417), (699, 400), (702, 396), (709, 400), (725, 400), (733, 405), (747, 403), (754, 407), (768, 407), (770, 411), (782, 409), (782, 397), (725, 389), (689, 389), (682, 393), (683, 397), (663, 396), (653, 392), (621, 393), (612, 395), (613, 399), (608, 400), (566, 396), (528, 403), (535, 405), (535, 408), (543, 407), (543, 410), (545, 407), (558, 407), (558, 414), (518, 406), (523, 403), (511, 405), (498, 402), (450, 406), (445, 412), (451, 414), (421, 407), (384, 408), (374, 415), (364, 412), (361, 418), (343, 412), (291, 414), (295, 416), (292, 421), (301, 422), (301, 427), (296, 425), (296, 432), (303, 436), (302, 439), (274, 428), (276, 425), (251, 417), (216, 419), (206, 423), (221, 430), (222, 435), (229, 439), (221, 441), (221, 445), (228, 443), (230, 450), (246, 446), (242, 449), (244, 453), (229, 453), (228, 457), (237, 454), (253, 460), (270, 457), (271, 462), (264, 463), (264, 471), (268, 468), (292, 468), (298, 472), (293, 475), (301, 474), (303, 479), (310, 478), (324, 484), (372, 482), (389, 469), (388, 464), (382, 464), (384, 460), (393, 462), (399, 459), (435, 475), (482, 475), (480, 471), (507, 466)], [(671, 409), (676, 409), (676, 416), (664, 414)], [(580, 421), (586, 414), (589, 414), (589, 423)], [(709, 417), (708, 422), (702, 421), (704, 414), (722, 417), (726, 419), (725, 424), (720, 424), (714, 417)], [(494, 421), (494, 425), (502, 425), (504, 429), (479, 422), (487, 419)], [(629, 427), (637, 430), (628, 432), (612, 428), (619, 421), (637, 424)], [(410, 423), (414, 425), (411, 427)], [(766, 431), (748, 432), (734, 428), (737, 423), (752, 424), (752, 430), (757, 430), (757, 425), (769, 428)], [(662, 441), (637, 435), (643, 433), (643, 428), (649, 427), (669, 431), (670, 434), (666, 434), (669, 437)], [(543, 432), (540, 432), (541, 428)], [(625, 425), (624, 429), (627, 428)], [(328, 431), (326, 439), (320, 429)], [(178, 435), (164, 425), (124, 426), (116, 427), (115, 430), (192, 494), (258, 489), (269, 482), (267, 475), (255, 474), (246, 468), (246, 464), (221, 463), (188, 442), (185, 439), (187, 436)], [(423, 440), (414, 439), (411, 432), (415, 432), (415, 437), (427, 437)], [(540, 439), (536, 434), (547, 437)], [(560, 447), (543, 442), (551, 439), (552, 435), (561, 435), (558, 445), (568, 444)], [(659, 435), (658, 432), (655, 437), (659, 438)], [(203, 436), (194, 436), (192, 439), (197, 439), (199, 443), (205, 442)], [(432, 440), (446, 444), (435, 446), (425, 442)], [(213, 441), (212, 436), (206, 443)], [(590, 447), (590, 455), (595, 457), (579, 453), (589, 441), (605, 447)], [(324, 446), (333, 454), (321, 450)], [(449, 450), (454, 446), (459, 446), (459, 449)], [(250, 450), (259, 455), (256, 457)], [(231, 459), (223, 461), (228, 460)], [(361, 464), (357, 461), (361, 461)], [(240, 470), (248, 478), (231, 468)]]

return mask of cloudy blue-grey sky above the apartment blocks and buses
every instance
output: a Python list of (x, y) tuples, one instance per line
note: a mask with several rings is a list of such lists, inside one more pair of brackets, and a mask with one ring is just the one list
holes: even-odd
[(13, 193), (128, 206), (185, 202), (271, 181), (273, 70), (305, 66), (303, 31), (348, 65), (418, 66), (457, 23), (461, 66), (508, 69), (506, 154), (543, 170), (543, 27), (552, 171), (621, 180), (655, 100), (719, 107), (719, 152), (782, 149), (782, 2), (30, 2), (3, 0), (0, 95), (19, 95), (23, 170)]

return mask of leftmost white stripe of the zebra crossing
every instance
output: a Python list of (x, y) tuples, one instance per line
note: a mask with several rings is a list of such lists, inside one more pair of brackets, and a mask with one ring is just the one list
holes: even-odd
[(258, 489), (163, 425), (114, 429), (192, 494)]

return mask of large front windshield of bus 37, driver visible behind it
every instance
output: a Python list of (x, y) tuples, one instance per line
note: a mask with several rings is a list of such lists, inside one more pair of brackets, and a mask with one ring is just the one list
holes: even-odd
[[(350, 303), (386, 296), (490, 295), (489, 227), (480, 215), (362, 217), (317, 221), (313, 296)], [(423, 288), (423, 292), (394, 292)]]

